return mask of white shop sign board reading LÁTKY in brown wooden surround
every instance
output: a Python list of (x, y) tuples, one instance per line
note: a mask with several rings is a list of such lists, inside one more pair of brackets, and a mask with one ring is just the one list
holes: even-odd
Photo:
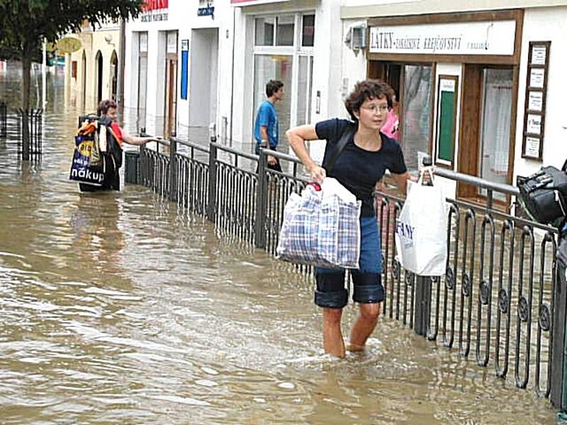
[(371, 53), (514, 55), (516, 22), (432, 23), (370, 28)]

